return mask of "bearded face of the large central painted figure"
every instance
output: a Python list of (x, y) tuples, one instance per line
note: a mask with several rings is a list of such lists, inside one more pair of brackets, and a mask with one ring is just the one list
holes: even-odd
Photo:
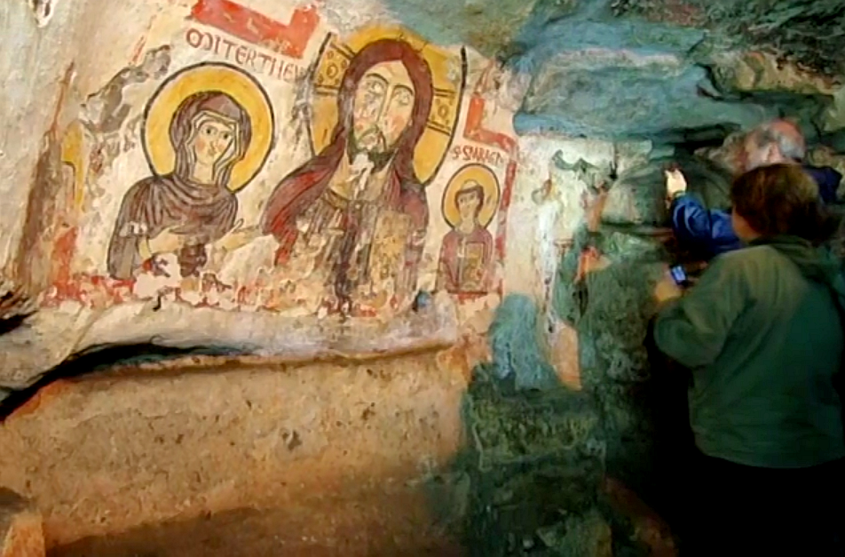
[(357, 146), (370, 153), (391, 151), (411, 123), (414, 84), (401, 62), (370, 68), (355, 90), (352, 132)]

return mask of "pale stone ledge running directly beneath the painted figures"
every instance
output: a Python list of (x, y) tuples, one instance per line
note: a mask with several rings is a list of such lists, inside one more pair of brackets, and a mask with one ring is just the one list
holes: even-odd
[(455, 311), (445, 293), (430, 307), (389, 322), (227, 312), (155, 300), (106, 310), (42, 310), (0, 335), (0, 401), (4, 389), (27, 388), (67, 358), (108, 346), (209, 347), (232, 354), (280, 356), (289, 362), (446, 348), (459, 338)]

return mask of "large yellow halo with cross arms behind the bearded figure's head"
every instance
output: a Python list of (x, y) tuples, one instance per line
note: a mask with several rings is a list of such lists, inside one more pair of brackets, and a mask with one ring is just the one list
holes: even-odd
[[(312, 74), (311, 140), (314, 153), (320, 153), (332, 139), (337, 123), (337, 94), (344, 81), (350, 60), (367, 44), (381, 39), (395, 39), (410, 44), (431, 71), (431, 109), (414, 151), (416, 177), (425, 184), (438, 171), (452, 143), (454, 128), (461, 113), (466, 82), (466, 60), (426, 42), (405, 28), (365, 28), (341, 42), (329, 36), (320, 49)], [(349, 99), (351, 102), (351, 99)]]

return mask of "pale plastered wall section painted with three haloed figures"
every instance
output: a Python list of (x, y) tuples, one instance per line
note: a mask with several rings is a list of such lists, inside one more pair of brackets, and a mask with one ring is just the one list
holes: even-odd
[[(548, 297), (582, 192), (626, 164), (625, 143), (517, 137), (524, 80), (471, 46), (427, 42), (381, 4), (59, 3), (40, 22), (12, 5), (42, 81), (12, 87), (32, 94), (19, 98), (21, 134), (4, 138), (20, 219), (4, 269), (39, 311), (0, 339), (6, 389), (115, 344), (300, 360), (448, 345), (485, 331), (507, 292)], [(127, 23), (88, 40), (95, 20)], [(59, 28), (60, 56), (39, 54)], [(386, 111), (416, 140), (365, 170), (365, 195), (384, 201), (360, 213), (355, 236), (331, 208), (359, 171), (342, 156), (337, 109), (354, 103), (338, 87), (356, 52), (388, 55), (385, 40), (406, 45), (419, 74), (397, 78), (420, 89), (416, 105)], [(200, 124), (225, 137), (198, 143)], [(558, 152), (590, 170), (560, 173)], [(211, 165), (205, 190), (190, 186), (203, 179), (197, 156)], [(462, 187), (477, 204), (464, 221)]]

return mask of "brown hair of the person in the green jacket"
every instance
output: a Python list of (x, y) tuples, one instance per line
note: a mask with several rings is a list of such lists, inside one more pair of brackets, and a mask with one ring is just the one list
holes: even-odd
[(816, 181), (798, 164), (771, 164), (747, 171), (733, 181), (730, 201), (762, 236), (793, 235), (823, 243), (837, 221), (818, 196)]

